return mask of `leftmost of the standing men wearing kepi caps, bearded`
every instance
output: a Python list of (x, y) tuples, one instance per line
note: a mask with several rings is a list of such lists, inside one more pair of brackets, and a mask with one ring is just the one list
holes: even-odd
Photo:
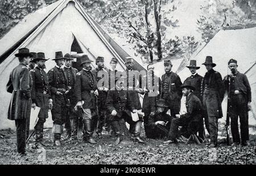
[[(96, 129), (96, 133), (98, 135), (101, 135), (102, 128), (104, 127), (104, 121), (106, 119), (106, 97), (108, 95), (108, 87), (109, 85), (105, 85), (104, 83), (107, 82), (109, 83), (109, 75), (108, 72), (104, 69), (104, 57), (98, 56), (96, 58), (96, 65), (97, 68), (92, 70), (92, 73), (94, 77), (98, 81), (104, 81), (98, 86), (98, 97), (97, 97), (97, 105), (98, 105), (98, 116), (99, 120), (97, 118), (93, 119), (93, 128)], [(104, 79), (104, 80), (102, 80)]]

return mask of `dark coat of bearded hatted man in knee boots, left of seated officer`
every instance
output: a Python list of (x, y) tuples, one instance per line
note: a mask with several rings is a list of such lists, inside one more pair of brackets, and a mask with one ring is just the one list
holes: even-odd
[(83, 100), (84, 109), (96, 109), (96, 97), (94, 91), (97, 90), (97, 80), (88, 70), (82, 69), (76, 74), (75, 95), (77, 102)]

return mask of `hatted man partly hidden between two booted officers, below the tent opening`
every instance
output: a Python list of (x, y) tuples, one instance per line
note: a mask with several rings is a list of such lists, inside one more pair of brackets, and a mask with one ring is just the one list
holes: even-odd
[(66, 98), (68, 99), (68, 101), (70, 103), (68, 103), (67, 105), (70, 105), (67, 107), (67, 114), (65, 116), (65, 123), (64, 123), (64, 127), (67, 131), (67, 136), (65, 138), (65, 140), (70, 139), (72, 137), (72, 139), (77, 139), (77, 114), (74, 110), (75, 106), (76, 106), (76, 95), (75, 95), (75, 82), (76, 82), (76, 74), (78, 72), (77, 69), (72, 67), (72, 60), (73, 58), (71, 57), (71, 55), (69, 55), (69, 53), (65, 54), (64, 56), (64, 62), (65, 62), (65, 66), (63, 68), (64, 73), (65, 73), (65, 77), (67, 78), (68, 81), (68, 93), (66, 95)]

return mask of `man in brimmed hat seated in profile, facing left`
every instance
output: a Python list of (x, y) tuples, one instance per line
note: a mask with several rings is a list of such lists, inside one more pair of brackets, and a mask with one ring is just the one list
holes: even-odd
[[(169, 137), (171, 138), (173, 143), (177, 143), (177, 138), (180, 136), (179, 126), (185, 127), (185, 129), (187, 129), (187, 132), (191, 134), (192, 132), (196, 132), (195, 124), (199, 124), (199, 121), (201, 119), (201, 102), (200, 99), (197, 98), (196, 95), (193, 93), (195, 87), (191, 85), (191, 82), (186, 81), (181, 86), (181, 89), (183, 95), (187, 97), (187, 113), (183, 115), (176, 114), (176, 118), (172, 120)], [(182, 131), (184, 131), (184, 128)]]

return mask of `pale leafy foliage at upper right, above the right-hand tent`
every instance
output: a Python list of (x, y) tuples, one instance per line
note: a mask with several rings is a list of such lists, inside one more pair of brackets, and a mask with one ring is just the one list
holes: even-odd
[(200, 9), (201, 15), (197, 24), (205, 43), (223, 27), (245, 26), (256, 22), (255, 0), (210, 0)]

